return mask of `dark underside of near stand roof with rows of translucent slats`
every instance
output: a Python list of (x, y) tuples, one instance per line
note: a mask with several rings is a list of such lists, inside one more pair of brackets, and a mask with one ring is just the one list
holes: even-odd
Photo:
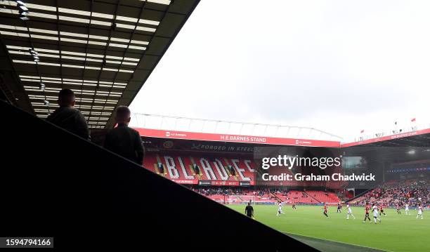
[(114, 108), (131, 103), (198, 2), (0, 1), (0, 88), (42, 118), (70, 88), (91, 128), (110, 126)]

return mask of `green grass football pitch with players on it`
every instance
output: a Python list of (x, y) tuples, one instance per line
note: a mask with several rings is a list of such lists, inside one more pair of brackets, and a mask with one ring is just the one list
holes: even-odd
[[(228, 205), (228, 207), (245, 214), (245, 205)], [(276, 216), (278, 206), (255, 205), (254, 218), (275, 230), (289, 234), (300, 234), (307, 237), (341, 241), (347, 244), (367, 246), (384, 251), (430, 251), (430, 214), (423, 211), (424, 220), (416, 219), (417, 211), (411, 210), (410, 215), (396, 213), (395, 209), (386, 208), (386, 216), (382, 215), (381, 224), (363, 223), (364, 208), (353, 207), (353, 215), (346, 220), (346, 207), (342, 213), (336, 213), (336, 206), (329, 206), (326, 218), (321, 206), (282, 207), (280, 217)], [(365, 248), (363, 248), (365, 251)]]

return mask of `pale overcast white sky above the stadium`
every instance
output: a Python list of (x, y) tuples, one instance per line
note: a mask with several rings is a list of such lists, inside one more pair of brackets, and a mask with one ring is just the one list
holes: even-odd
[(202, 0), (133, 112), (309, 126), (429, 124), (430, 1)]

